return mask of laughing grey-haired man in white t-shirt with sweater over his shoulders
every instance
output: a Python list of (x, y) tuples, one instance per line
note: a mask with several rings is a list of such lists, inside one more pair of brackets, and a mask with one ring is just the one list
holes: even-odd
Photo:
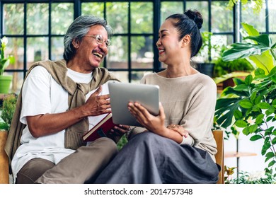
[(111, 36), (105, 20), (79, 16), (64, 36), (64, 59), (30, 66), (6, 144), (14, 182), (91, 182), (117, 153), (111, 139), (82, 141), (110, 112), (107, 81), (117, 79), (99, 66)]

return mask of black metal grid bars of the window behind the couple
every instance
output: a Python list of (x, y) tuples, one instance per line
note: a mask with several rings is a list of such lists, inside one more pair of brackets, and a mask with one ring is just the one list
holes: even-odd
[[(153, 33), (131, 33), (130, 31), (130, 27), (131, 27), (131, 11), (130, 11), (130, 6), (129, 6), (129, 10), (128, 10), (128, 30), (127, 33), (125, 34), (114, 34), (114, 36), (127, 36), (128, 39), (128, 67), (127, 69), (109, 69), (110, 71), (127, 71), (128, 72), (128, 78), (129, 81), (131, 82), (132, 80), (132, 71), (154, 71), (154, 72), (158, 72), (161, 71), (161, 64), (158, 60), (158, 50), (155, 47), (156, 41), (158, 40), (158, 31), (159, 31), (159, 26), (161, 25), (161, 3), (162, 1), (172, 1), (172, 0), (132, 0), (132, 1), (103, 1), (104, 3), (104, 18), (106, 18), (106, 3), (108, 2), (128, 2), (129, 4), (131, 2), (152, 2), (153, 3), (153, 13), (154, 13), (154, 23), (153, 23)], [(176, 1), (180, 1), (180, 0), (176, 0)], [(185, 11), (186, 9), (186, 3), (188, 1), (196, 1), (196, 0), (183, 0), (183, 11)], [(197, 0), (198, 1), (198, 0)], [(211, 32), (212, 30), (212, 15), (211, 15), (211, 3), (212, 1), (228, 1), (228, 0), (201, 0), (201, 1), (207, 1), (208, 2), (208, 31)], [(24, 45), (24, 57), (23, 57), (23, 69), (6, 69), (6, 71), (9, 72), (23, 72), (23, 76), (25, 77), (25, 74), (27, 72), (27, 54), (26, 54), (26, 46), (27, 46), (27, 37), (48, 37), (48, 53), (49, 53), (49, 59), (51, 59), (51, 38), (52, 37), (64, 37), (64, 35), (54, 35), (51, 34), (51, 4), (52, 3), (73, 3), (74, 4), (74, 18), (77, 18), (78, 16), (81, 15), (81, 4), (82, 3), (86, 3), (86, 2), (99, 2), (98, 0), (0, 0), (0, 8), (1, 8), (1, 14), (0, 14), (0, 37), (23, 37), (23, 45)], [(26, 18), (27, 18), (27, 4), (28, 3), (46, 3), (49, 4), (49, 27), (48, 27), (48, 34), (45, 35), (27, 35), (26, 30)], [(3, 33), (3, 9), (4, 9), (4, 4), (24, 4), (24, 33), (23, 35), (5, 35)], [(236, 42), (236, 6), (234, 6), (233, 9), (233, 27), (234, 30), (231, 32), (223, 32), (223, 33), (213, 33), (214, 35), (231, 35), (233, 37), (234, 42)], [(270, 34), (276, 34), (276, 32), (269, 32), (269, 23), (268, 23), (268, 18), (269, 18), (269, 14), (268, 14), (268, 1), (266, 1), (266, 10), (265, 10), (265, 33), (270, 33)], [(242, 19), (241, 19), (242, 21)], [(131, 58), (131, 45), (130, 45), (130, 40), (132, 36), (152, 36), (154, 38), (154, 42), (153, 42), (153, 51), (154, 51), (154, 64), (153, 64), (153, 68), (151, 69), (133, 69), (132, 68), (132, 58)], [(238, 35), (239, 36), (239, 35)], [(103, 63), (103, 66), (106, 67), (107, 63), (106, 61)]]

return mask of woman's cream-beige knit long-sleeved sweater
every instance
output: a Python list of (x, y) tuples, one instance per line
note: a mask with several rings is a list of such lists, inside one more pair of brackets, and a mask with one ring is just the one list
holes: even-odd
[[(141, 83), (160, 87), (160, 101), (165, 110), (166, 126), (183, 126), (189, 132), (183, 143), (201, 148), (214, 158), (217, 144), (211, 129), (217, 101), (217, 86), (212, 78), (200, 73), (178, 78), (165, 78), (151, 73), (146, 74)], [(135, 127), (130, 136), (144, 131), (142, 127)]]

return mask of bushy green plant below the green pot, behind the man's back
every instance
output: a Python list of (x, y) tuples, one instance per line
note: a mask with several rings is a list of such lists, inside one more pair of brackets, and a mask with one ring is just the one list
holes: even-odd
[(17, 96), (14, 94), (7, 95), (1, 107), (1, 121), (0, 130), (9, 131), (11, 127), (11, 120), (13, 119), (13, 113), (16, 109)]

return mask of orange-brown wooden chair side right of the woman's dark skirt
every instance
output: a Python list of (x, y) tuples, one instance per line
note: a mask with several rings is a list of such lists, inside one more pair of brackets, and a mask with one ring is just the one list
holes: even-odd
[(223, 131), (214, 130), (214, 139), (217, 142), (217, 154), (215, 155), (216, 163), (221, 166), (222, 170), (219, 172), (219, 180), (217, 184), (224, 184), (224, 136)]

